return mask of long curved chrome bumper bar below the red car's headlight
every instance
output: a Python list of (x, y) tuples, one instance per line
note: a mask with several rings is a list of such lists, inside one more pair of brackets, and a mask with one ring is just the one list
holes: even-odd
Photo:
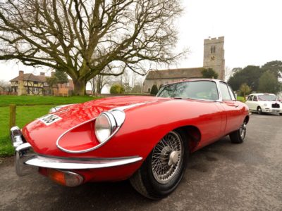
[(41, 155), (35, 155), (34, 158), (27, 160), (25, 164), (35, 167), (46, 167), (59, 170), (87, 170), (100, 169), (105, 167), (116, 167), (128, 165), (142, 160), (141, 157), (113, 158), (101, 160), (75, 160), (63, 158), (47, 158)]

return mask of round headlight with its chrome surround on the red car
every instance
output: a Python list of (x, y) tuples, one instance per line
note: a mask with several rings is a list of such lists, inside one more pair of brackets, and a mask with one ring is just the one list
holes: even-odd
[(100, 143), (111, 139), (125, 120), (123, 110), (109, 110), (101, 113), (95, 121), (95, 135)]

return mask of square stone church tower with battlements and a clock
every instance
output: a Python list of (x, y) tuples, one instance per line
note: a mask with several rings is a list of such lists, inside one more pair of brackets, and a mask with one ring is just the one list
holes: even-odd
[(224, 37), (204, 39), (204, 68), (212, 68), (224, 80)]

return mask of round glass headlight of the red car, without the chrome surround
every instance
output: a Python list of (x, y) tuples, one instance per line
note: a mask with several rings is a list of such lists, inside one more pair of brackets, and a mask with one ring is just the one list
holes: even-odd
[(95, 135), (100, 143), (107, 141), (116, 129), (116, 121), (111, 113), (102, 113), (95, 122)]

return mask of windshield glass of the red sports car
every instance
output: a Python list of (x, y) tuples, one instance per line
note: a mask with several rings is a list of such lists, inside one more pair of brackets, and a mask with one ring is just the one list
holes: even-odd
[(157, 96), (164, 98), (192, 98), (211, 101), (219, 99), (216, 83), (210, 81), (169, 84), (161, 87)]

